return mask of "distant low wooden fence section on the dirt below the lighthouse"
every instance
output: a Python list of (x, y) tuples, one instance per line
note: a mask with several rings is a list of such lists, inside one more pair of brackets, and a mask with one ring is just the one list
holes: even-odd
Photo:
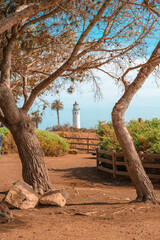
[[(64, 137), (69, 140), (71, 149), (84, 150), (87, 152), (96, 152), (99, 140), (97, 138)], [(94, 142), (94, 143), (93, 143)], [(96, 142), (96, 143), (95, 143)]]

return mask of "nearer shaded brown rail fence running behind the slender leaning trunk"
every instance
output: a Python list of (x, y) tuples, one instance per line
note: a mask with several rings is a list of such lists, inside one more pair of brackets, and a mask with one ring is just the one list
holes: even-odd
[[(113, 174), (113, 178), (116, 175), (129, 176), (122, 153), (109, 152), (96, 148), (96, 155), (98, 170)], [(144, 154), (140, 152), (139, 156), (147, 175), (150, 178), (160, 179), (160, 154)]]

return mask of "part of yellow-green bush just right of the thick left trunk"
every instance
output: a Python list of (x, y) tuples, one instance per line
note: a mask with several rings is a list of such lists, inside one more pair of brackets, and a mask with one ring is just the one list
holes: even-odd
[(67, 140), (49, 131), (36, 129), (41, 148), (45, 156), (59, 156), (69, 150)]

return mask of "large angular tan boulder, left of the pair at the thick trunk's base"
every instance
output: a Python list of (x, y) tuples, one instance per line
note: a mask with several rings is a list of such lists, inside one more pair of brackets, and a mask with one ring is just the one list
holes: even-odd
[(19, 209), (34, 208), (38, 200), (38, 194), (33, 188), (22, 181), (15, 182), (5, 197), (5, 202)]

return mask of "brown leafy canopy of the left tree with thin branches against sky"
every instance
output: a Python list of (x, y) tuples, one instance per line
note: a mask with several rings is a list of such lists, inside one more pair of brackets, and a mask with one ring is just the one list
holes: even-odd
[[(15, 13), (23, 3), (34, 2), (42, 1), (3, 0), (0, 19)], [(104, 14), (96, 19), (106, 2)], [(157, 1), (152, 1), (153, 9), (157, 5)], [(119, 82), (126, 67), (136, 62), (137, 57), (147, 55), (146, 37), (156, 36), (157, 21), (144, 1), (63, 0), (25, 19), (17, 27), (11, 89), (16, 101), (24, 97), (27, 102), (30, 94), (35, 94), (35, 88), (40, 89), (36, 96), (43, 99), (48, 91), (59, 92), (66, 83), (70, 85), (68, 92), (73, 92), (76, 83), (84, 80), (92, 80), (97, 87), (93, 69), (114, 76)], [(11, 29), (0, 36), (0, 62), (3, 61), (4, 47), (12, 37)], [(110, 69), (110, 63), (115, 65), (114, 69)], [(64, 70), (58, 75), (57, 71), (62, 67)], [(50, 81), (51, 78), (54, 80)], [(44, 82), (48, 83), (42, 84)]]

